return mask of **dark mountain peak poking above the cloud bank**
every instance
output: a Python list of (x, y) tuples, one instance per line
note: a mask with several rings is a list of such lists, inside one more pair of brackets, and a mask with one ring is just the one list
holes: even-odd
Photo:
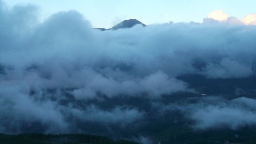
[(116, 29), (120, 29), (120, 28), (131, 28), (138, 24), (142, 25), (143, 27), (146, 26), (144, 23), (138, 21), (137, 19), (130, 19), (130, 20), (124, 20), (110, 29), (116, 30)]

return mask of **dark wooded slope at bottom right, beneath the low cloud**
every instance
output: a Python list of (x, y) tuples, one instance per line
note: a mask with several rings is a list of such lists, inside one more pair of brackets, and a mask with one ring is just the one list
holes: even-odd
[(154, 135), (154, 141), (161, 141), (161, 144), (216, 144), (256, 143), (256, 127), (244, 127), (238, 130), (212, 129), (207, 131), (194, 131), (189, 127), (173, 125), (165, 131)]

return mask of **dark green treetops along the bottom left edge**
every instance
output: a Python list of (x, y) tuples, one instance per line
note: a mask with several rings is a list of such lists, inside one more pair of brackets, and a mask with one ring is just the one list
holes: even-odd
[[(43, 134), (43, 133), (26, 133), (18, 135), (8, 135), (0, 133), (0, 143), (10, 144), (10, 143), (33, 143), (33, 144), (43, 144), (43, 143), (105, 143), (105, 144), (136, 144), (137, 142), (128, 140), (112, 140), (108, 137), (103, 137), (100, 135), (92, 134)], [(138, 144), (138, 143), (137, 143)]]

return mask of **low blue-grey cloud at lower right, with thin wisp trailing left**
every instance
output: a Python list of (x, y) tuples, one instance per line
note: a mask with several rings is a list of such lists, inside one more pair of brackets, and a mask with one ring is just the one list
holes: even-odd
[(155, 107), (161, 109), (161, 113), (180, 110), (189, 119), (193, 119), (194, 129), (220, 129), (229, 127), (236, 130), (243, 126), (256, 125), (255, 99), (240, 97), (233, 100), (226, 100), (221, 97), (192, 98), (196, 103), (171, 103), (161, 106), (158, 103)]

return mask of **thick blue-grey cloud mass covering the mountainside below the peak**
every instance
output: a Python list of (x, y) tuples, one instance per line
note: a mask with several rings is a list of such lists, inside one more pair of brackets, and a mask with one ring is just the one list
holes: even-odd
[(143, 125), (146, 109), (105, 106), (115, 98), (141, 98), (159, 113), (177, 109), (195, 121), (195, 129), (256, 124), (252, 98), (160, 102), (163, 95), (198, 93), (178, 78), (182, 75), (255, 76), (256, 27), (234, 17), (100, 31), (76, 11), (40, 22), (38, 7), (0, 1), (0, 19), (1, 133), (33, 126), (45, 133), (76, 133), (91, 132), (83, 127), (91, 123), (109, 131), (115, 131), (111, 125)]

